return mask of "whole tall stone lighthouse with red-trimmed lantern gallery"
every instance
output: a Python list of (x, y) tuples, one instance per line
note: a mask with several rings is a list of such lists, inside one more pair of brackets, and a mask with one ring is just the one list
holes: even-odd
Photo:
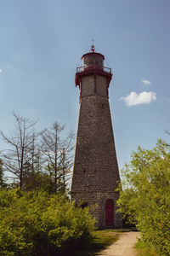
[(71, 200), (88, 206), (99, 228), (122, 226), (116, 213), (120, 177), (108, 100), (112, 74), (104, 60), (93, 44), (82, 55), (82, 67), (77, 67), (80, 112), (71, 184)]

